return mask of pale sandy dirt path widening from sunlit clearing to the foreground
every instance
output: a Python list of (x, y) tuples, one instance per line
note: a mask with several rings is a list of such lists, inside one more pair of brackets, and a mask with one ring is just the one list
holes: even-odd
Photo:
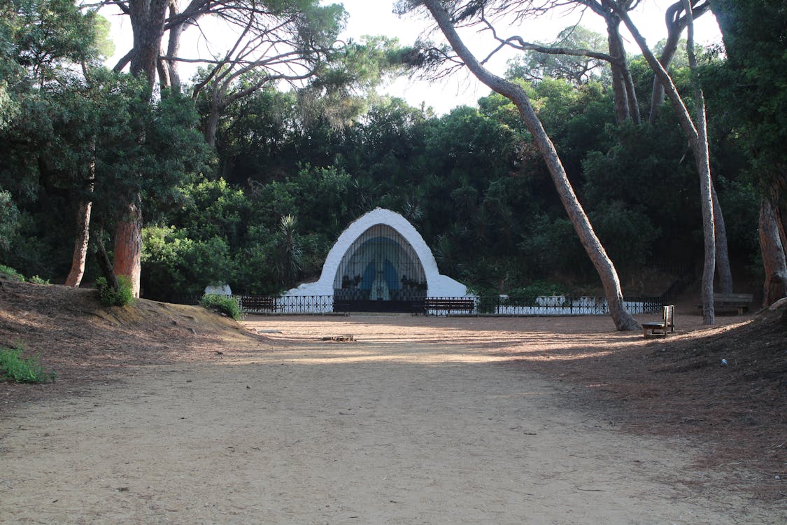
[(4, 414), (0, 523), (787, 520), (696, 490), (711, 474), (688, 443), (627, 434), (508, 365), (522, 345), (587, 347), (608, 320), (410, 319), (250, 320), (264, 350)]

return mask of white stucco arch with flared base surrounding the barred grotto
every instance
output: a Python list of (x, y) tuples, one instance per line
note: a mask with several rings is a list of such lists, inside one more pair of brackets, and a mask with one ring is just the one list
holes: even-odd
[(398, 231), (399, 234), (410, 243), (412, 249), (416, 251), (423, 272), (427, 277), (427, 295), (430, 297), (463, 297), (467, 295), (467, 287), (464, 284), (451, 279), (446, 275), (440, 275), (438, 271), (437, 261), (434, 260), (432, 251), (423, 240), (423, 237), (416, 231), (416, 228), (408, 222), (405, 217), (398, 213), (390, 211), (390, 209), (377, 208), (371, 212), (360, 216), (357, 220), (350, 224), (347, 229), (339, 235), (334, 247), (328, 252), (323, 264), (323, 272), (320, 274), (320, 279), (315, 283), (304, 283), (297, 288), (293, 288), (286, 292), (288, 296), (303, 296), (303, 295), (331, 295), (334, 294), (334, 278), (338, 270), (339, 264), (342, 262), (350, 245), (355, 242), (364, 231), (377, 224), (385, 224)]

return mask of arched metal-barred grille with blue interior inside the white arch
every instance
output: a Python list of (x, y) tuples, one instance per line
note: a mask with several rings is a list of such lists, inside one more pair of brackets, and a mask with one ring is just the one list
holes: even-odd
[(334, 278), (335, 312), (423, 312), (427, 277), (416, 250), (386, 224), (364, 231)]

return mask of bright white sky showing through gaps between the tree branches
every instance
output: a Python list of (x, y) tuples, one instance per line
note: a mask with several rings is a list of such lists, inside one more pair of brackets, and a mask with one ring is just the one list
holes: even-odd
[[(633, 14), (634, 22), (647, 39), (649, 45), (657, 43), (666, 38), (667, 30), (664, 25), (663, 13), (674, 0), (644, 0), (643, 6), (638, 8)], [(388, 35), (399, 39), (403, 44), (412, 43), (423, 31), (430, 27), (427, 20), (417, 17), (399, 18), (393, 14), (393, 0), (325, 0), (325, 3), (342, 3), (345, 10), (349, 13), (349, 21), (343, 38), (358, 39), (363, 35)], [(115, 65), (116, 61), (130, 49), (131, 24), (127, 20), (124, 24), (118, 24), (123, 17), (109, 17), (113, 21), (115, 42), (117, 47), (116, 57), (107, 61), (108, 65)], [(549, 19), (530, 20), (525, 24), (511, 30), (511, 35), (520, 35), (527, 41), (549, 42), (555, 38), (557, 33), (563, 28), (578, 22), (578, 14), (560, 17), (556, 13)], [(600, 17), (593, 13), (587, 13), (582, 19), (582, 25), (604, 34), (604, 22)], [(187, 31), (194, 33), (194, 30)], [(502, 34), (502, 31), (501, 31)], [(192, 37), (198, 35), (194, 33)], [(494, 44), (490, 38), (475, 37), (474, 34), (463, 35), (467, 39), (467, 45), (478, 53), (478, 56), (486, 56), (493, 49)], [(433, 39), (442, 37), (441, 34), (434, 34)], [(624, 30), (624, 39), (628, 34)], [(719, 26), (716, 24), (712, 13), (706, 13), (696, 22), (697, 43), (715, 43), (721, 41)], [(486, 42), (486, 44), (484, 44)], [(638, 54), (639, 50), (633, 39), (628, 39), (626, 47), (630, 53)], [(192, 44), (182, 46), (182, 49), (205, 50), (204, 41), (195, 40)], [(505, 69), (505, 61), (513, 56), (513, 51), (508, 54), (501, 54), (497, 60), (490, 63), (490, 68), (494, 72), (502, 74)], [(183, 77), (189, 76), (183, 72)], [(398, 79), (390, 86), (380, 90), (384, 94), (405, 98), (410, 105), (419, 106), (425, 103), (434, 108), (438, 114), (448, 113), (457, 105), (475, 105), (479, 97), (489, 94), (489, 89), (468, 76), (466, 72), (457, 72), (448, 79), (437, 83), (425, 82), (416, 79)]]

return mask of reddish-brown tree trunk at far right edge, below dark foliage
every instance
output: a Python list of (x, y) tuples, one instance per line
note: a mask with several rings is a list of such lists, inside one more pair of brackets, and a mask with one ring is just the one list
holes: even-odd
[(787, 260), (781, 243), (776, 207), (767, 198), (759, 203), (759, 247), (763, 252), (765, 285), (763, 306), (770, 306), (787, 297)]

